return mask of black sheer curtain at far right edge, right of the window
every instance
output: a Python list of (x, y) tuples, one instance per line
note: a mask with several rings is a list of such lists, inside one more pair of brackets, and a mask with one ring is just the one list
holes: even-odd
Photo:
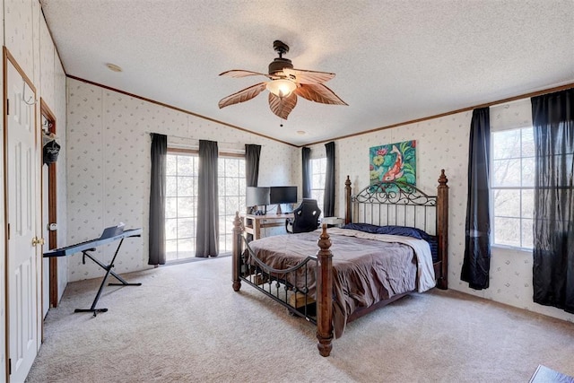
[(532, 98), (534, 301), (574, 313), (574, 89)]

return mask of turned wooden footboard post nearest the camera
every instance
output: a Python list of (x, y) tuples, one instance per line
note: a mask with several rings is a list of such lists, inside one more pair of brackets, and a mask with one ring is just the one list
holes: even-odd
[(325, 223), (317, 245), (317, 348), (321, 356), (329, 356), (333, 348), (333, 254)]

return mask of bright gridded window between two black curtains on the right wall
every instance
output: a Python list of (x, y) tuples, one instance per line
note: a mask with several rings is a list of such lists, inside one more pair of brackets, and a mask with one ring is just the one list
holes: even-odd
[(533, 248), (532, 126), (491, 133), (492, 245)]

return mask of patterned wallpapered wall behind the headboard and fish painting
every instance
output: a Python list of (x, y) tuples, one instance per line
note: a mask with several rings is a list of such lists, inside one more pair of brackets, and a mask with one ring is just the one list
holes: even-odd
[[(531, 124), (530, 100), (491, 108), (491, 128), (516, 128)], [(369, 148), (416, 140), (417, 186), (429, 194), (436, 191), (440, 170), (446, 170), (449, 186), (448, 287), (521, 309), (570, 322), (574, 315), (541, 306), (532, 300), (532, 253), (492, 248), (490, 288), (474, 291), (460, 280), (465, 253), (465, 215), (468, 167), (468, 135), (472, 111), (398, 126), (368, 135), (336, 141), (335, 211), (344, 216), (344, 180), (349, 175), (353, 193), (369, 185)], [(325, 155), (324, 144), (311, 146), (312, 157)]]

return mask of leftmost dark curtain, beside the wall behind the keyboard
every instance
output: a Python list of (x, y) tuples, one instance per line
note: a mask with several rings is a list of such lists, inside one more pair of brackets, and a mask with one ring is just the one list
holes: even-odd
[(165, 264), (165, 164), (167, 153), (168, 136), (152, 133), (148, 265)]

